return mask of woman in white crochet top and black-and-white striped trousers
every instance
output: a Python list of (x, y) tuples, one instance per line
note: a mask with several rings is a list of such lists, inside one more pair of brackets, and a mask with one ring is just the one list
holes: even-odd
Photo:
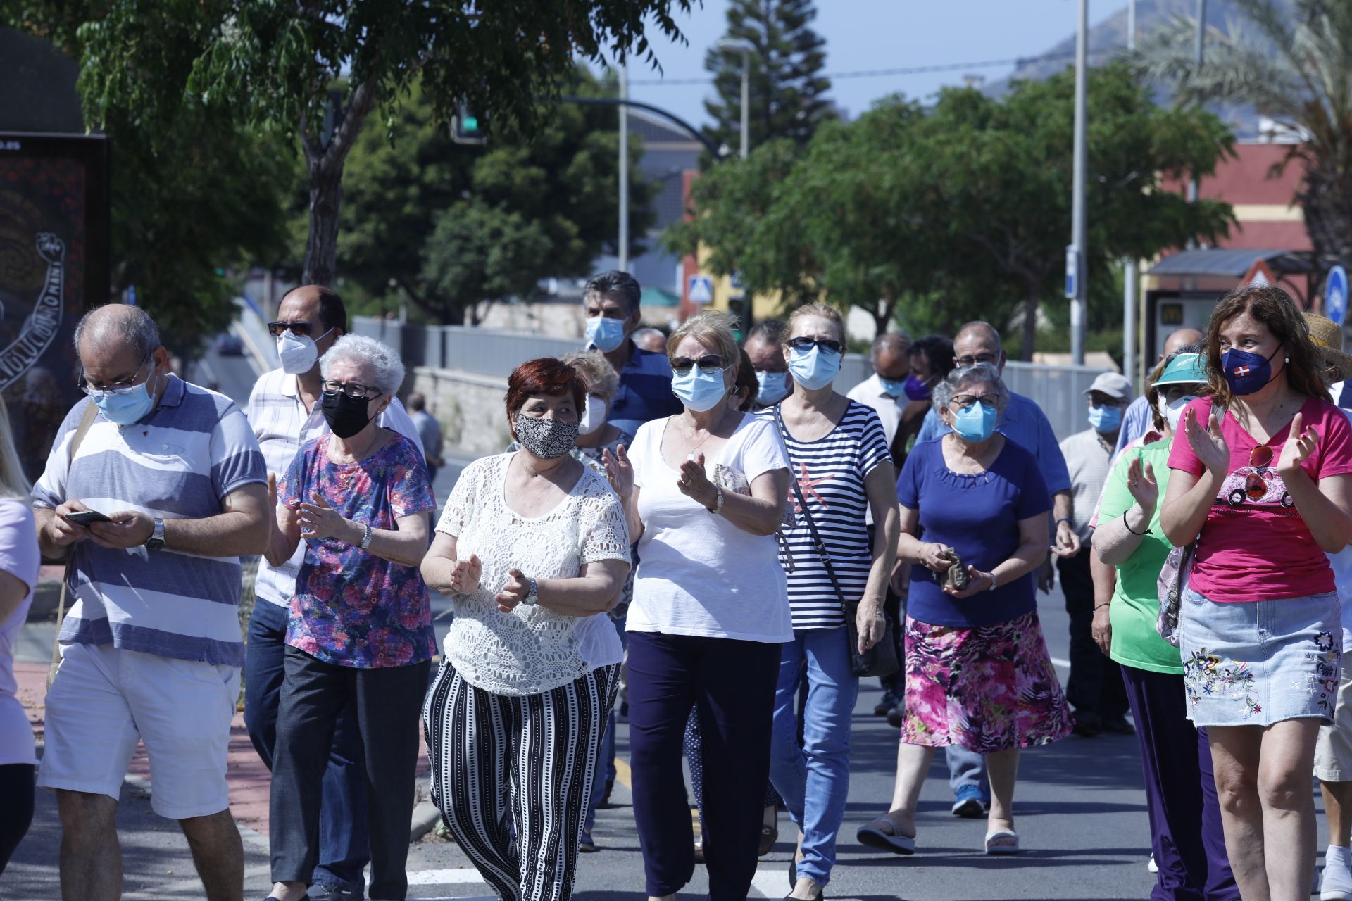
[(422, 563), (456, 604), (423, 708), (433, 800), (503, 898), (572, 897), (623, 655), (606, 612), (629, 535), (606, 477), (569, 455), (583, 394), (557, 359), (516, 367), (521, 450), (465, 467)]

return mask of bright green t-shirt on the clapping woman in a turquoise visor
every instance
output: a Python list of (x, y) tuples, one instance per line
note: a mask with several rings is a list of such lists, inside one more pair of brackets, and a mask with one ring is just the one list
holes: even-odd
[(1152, 673), (1183, 673), (1179, 650), (1160, 638), (1155, 623), (1160, 616), (1159, 580), (1164, 559), (1172, 546), (1160, 528), (1160, 508), (1164, 507), (1164, 490), (1169, 484), (1169, 442), (1155, 442), (1145, 447), (1129, 447), (1122, 451), (1113, 474), (1103, 488), (1099, 503), (1098, 524), (1122, 516), (1136, 505), (1136, 498), (1126, 488), (1126, 469), (1132, 458), (1149, 463), (1155, 480), (1160, 484), (1160, 500), (1151, 517), (1149, 532), (1141, 539), (1136, 552), (1117, 567), (1117, 586), (1113, 589), (1113, 605), (1109, 619), (1113, 623), (1113, 652), (1109, 655), (1124, 666)]

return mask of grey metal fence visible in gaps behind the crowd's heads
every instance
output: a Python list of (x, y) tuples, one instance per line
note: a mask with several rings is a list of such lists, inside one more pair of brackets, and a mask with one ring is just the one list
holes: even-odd
[[(507, 378), (522, 362), (535, 357), (561, 357), (581, 347), (576, 338), (549, 338), (526, 332), (495, 331), (468, 326), (410, 326), (392, 319), (356, 316), (353, 331), (393, 347), (404, 365), (458, 369), (479, 376)], [(850, 385), (868, 378), (873, 367), (863, 354), (846, 354), (836, 384)], [(1011, 392), (1030, 397), (1052, 423), (1057, 439), (1088, 428), (1084, 390), (1102, 369), (1092, 366), (1048, 366), (1010, 361), (1005, 384)]]

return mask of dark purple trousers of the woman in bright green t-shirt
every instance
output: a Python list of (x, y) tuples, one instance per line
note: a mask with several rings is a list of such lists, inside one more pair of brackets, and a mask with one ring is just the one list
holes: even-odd
[(1151, 901), (1238, 901), (1211, 746), (1206, 729), (1187, 719), (1183, 677), (1122, 665), (1122, 682), (1141, 744), (1151, 850), (1160, 869)]

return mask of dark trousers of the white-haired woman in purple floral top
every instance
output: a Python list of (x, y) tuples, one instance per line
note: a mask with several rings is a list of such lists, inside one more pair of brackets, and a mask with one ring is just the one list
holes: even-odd
[(310, 882), (319, 863), (319, 804), (334, 727), (350, 702), (366, 770), (370, 897), (408, 893), (408, 824), (418, 719), (431, 662), (380, 669), (326, 663), (291, 646), (272, 761), (272, 878)]

